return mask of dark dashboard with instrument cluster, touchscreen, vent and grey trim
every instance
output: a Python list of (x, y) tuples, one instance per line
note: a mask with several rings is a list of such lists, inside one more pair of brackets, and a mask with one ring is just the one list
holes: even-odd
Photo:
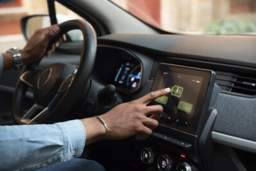
[[(164, 87), (171, 93), (149, 104), (163, 106), (160, 125), (150, 138), (95, 143), (100, 156), (92, 159), (104, 165), (104, 158), (111, 158), (113, 163), (104, 165), (107, 170), (123, 165), (123, 170), (253, 170), (256, 39), (179, 37), (98, 39), (91, 89), (83, 104), (86, 116)], [(223, 48), (239, 42), (246, 48)], [(97, 99), (108, 85), (115, 91), (113, 101), (105, 105)]]

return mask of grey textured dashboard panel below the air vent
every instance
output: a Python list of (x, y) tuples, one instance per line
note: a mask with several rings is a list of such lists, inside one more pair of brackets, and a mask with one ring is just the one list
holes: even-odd
[(219, 94), (214, 131), (256, 141), (256, 98)]

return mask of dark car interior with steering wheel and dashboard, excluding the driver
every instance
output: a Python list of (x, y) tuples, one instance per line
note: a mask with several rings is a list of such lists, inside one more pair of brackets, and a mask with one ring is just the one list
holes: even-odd
[(163, 106), (149, 138), (100, 140), (81, 158), (106, 170), (255, 170), (255, 35), (170, 33), (111, 1), (58, 3), (83, 20), (58, 15), (54, 0), (48, 14), (21, 20), (26, 40), (47, 21), (67, 41), (3, 73), (1, 125), (89, 118), (170, 87), (149, 104)]

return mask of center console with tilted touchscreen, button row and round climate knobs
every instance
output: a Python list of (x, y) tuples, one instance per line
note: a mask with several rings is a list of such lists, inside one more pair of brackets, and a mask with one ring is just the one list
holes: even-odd
[(202, 170), (197, 147), (217, 98), (214, 82), (214, 71), (160, 64), (151, 91), (166, 87), (171, 91), (149, 104), (161, 105), (163, 113), (156, 131), (141, 146), (145, 170)]

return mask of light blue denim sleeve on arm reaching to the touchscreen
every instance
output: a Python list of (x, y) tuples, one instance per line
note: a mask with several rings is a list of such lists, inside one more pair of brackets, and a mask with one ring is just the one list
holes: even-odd
[(78, 158), (86, 143), (80, 120), (0, 126), (0, 170), (35, 170)]

